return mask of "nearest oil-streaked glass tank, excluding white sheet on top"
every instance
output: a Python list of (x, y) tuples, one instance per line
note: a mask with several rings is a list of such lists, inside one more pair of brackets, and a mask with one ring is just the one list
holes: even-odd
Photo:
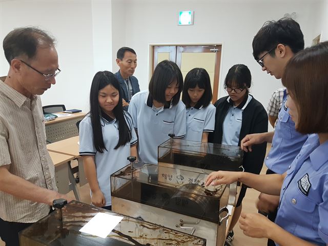
[(59, 219), (59, 210), (56, 210), (20, 232), (20, 245), (206, 245), (206, 239), (181, 233), (125, 215), (119, 215), (124, 218), (106, 238), (79, 232), (79, 230), (97, 213), (119, 215), (85, 203), (71, 201), (62, 209), (62, 220)]

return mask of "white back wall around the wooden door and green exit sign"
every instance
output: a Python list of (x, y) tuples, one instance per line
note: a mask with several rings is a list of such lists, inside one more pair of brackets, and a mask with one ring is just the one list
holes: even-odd
[[(281, 87), (280, 80), (262, 72), (252, 56), (252, 40), (267, 20), (277, 20), (296, 12), (304, 33), (305, 46), (312, 44), (313, 20), (322, 2), (318, 1), (112, 1), (125, 19), (126, 42), (135, 49), (138, 67), (135, 76), (140, 89), (149, 82), (149, 44), (223, 44), (219, 95), (225, 95), (222, 82), (234, 64), (247, 65), (253, 76), (251, 93), (267, 107), (271, 93)], [(178, 11), (194, 10), (193, 26), (177, 26)], [(318, 18), (315, 18), (318, 22)], [(311, 21), (310, 21), (311, 20)], [(114, 21), (113, 21), (114, 25)], [(113, 38), (119, 35), (113, 29)], [(114, 43), (114, 39), (113, 39)], [(113, 50), (114, 55), (114, 50)], [(114, 57), (113, 57), (114, 58)]]

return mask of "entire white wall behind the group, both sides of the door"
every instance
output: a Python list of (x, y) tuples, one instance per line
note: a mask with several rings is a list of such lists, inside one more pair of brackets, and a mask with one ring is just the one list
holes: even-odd
[[(178, 11), (194, 10), (193, 26), (177, 26)], [(0, 39), (15, 27), (33, 25), (57, 38), (57, 84), (43, 96), (43, 104), (64, 103), (88, 110), (94, 73), (116, 72), (116, 51), (130, 46), (137, 52), (135, 76), (140, 88), (149, 82), (149, 44), (223, 44), (219, 95), (229, 68), (247, 65), (253, 76), (251, 93), (264, 107), (280, 81), (261, 72), (252, 56), (252, 40), (266, 20), (296, 12), (305, 46), (327, 32), (327, 1), (183, 1), (183, 0), (0, 0)], [(316, 34), (318, 33), (318, 34)], [(0, 76), (8, 64), (1, 47)]]

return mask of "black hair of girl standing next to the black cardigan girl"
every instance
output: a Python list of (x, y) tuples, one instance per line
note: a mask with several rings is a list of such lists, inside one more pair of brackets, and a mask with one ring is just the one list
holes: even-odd
[(188, 89), (195, 88), (196, 86), (204, 89), (204, 94), (197, 102), (197, 105), (207, 107), (211, 103), (213, 95), (210, 75), (203, 68), (194, 68), (187, 73), (185, 81), (183, 82), (182, 101), (187, 109), (190, 108), (191, 102)]

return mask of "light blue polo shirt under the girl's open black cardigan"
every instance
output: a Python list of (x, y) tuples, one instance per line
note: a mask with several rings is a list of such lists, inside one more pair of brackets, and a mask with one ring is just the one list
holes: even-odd
[(230, 101), (230, 96), (227, 98), (228, 103), (231, 104), (226, 117), (223, 121), (223, 134), (222, 134), (222, 145), (238, 146), (241, 122), (242, 122), (242, 111), (252, 100), (251, 95), (247, 95), (247, 99), (237, 107), (233, 106), (233, 101)]

